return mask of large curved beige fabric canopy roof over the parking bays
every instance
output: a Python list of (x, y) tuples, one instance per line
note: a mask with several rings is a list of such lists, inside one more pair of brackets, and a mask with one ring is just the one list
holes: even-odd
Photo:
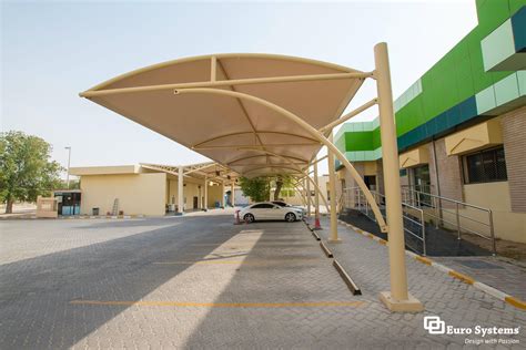
[(216, 54), (148, 66), (111, 79), (81, 95), (240, 174), (275, 175), (292, 173), (294, 166), (247, 147), (266, 150), (305, 166), (320, 151), (320, 143), (295, 123), (255, 102), (215, 94), (174, 95), (174, 89), (210, 87), (214, 80), (235, 80), (213, 87), (264, 99), (321, 128), (340, 117), (362, 85), (362, 78), (250, 84), (239, 81), (341, 73), (358, 71), (283, 55)]

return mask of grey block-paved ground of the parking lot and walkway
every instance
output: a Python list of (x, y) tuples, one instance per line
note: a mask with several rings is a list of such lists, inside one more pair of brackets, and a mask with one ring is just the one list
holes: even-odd
[(351, 233), (332, 247), (363, 289), (353, 296), (303, 223), (232, 222), (232, 210), (213, 210), (0, 223), (0, 349), (454, 348), (463, 339), (427, 334), (424, 316), (526, 319), (411, 264), (427, 311), (390, 313), (377, 300), (385, 247)]

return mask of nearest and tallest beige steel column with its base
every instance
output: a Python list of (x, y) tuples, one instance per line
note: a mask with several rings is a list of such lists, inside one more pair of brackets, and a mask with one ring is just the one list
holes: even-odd
[(423, 309), (422, 303), (413, 298), (407, 290), (398, 147), (387, 44), (385, 42), (374, 47), (374, 59), (376, 68), (374, 75), (378, 91), (380, 132), (391, 268), (391, 292), (383, 291), (381, 300), (393, 311), (419, 311)]

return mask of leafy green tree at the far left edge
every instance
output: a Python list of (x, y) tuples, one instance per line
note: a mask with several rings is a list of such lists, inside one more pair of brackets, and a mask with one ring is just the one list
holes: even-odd
[(12, 213), (16, 200), (34, 202), (59, 184), (63, 168), (50, 159), (51, 145), (22, 132), (0, 134), (0, 200)]

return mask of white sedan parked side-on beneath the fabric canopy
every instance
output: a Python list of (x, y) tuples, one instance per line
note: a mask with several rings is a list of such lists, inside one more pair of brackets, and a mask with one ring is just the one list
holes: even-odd
[(239, 215), (240, 219), (245, 223), (253, 223), (255, 220), (285, 220), (293, 223), (303, 218), (301, 209), (282, 207), (271, 202), (252, 204), (236, 212), (235, 215)]

